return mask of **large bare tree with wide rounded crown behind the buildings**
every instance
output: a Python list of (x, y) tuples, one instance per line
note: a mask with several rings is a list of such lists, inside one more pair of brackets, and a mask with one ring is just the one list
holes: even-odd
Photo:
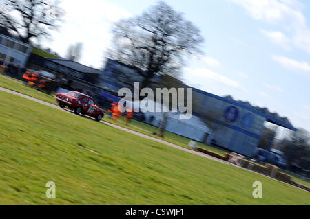
[(180, 73), (185, 56), (201, 53), (203, 43), (200, 30), (163, 1), (140, 16), (118, 21), (112, 34), (110, 58), (137, 69), (140, 89), (148, 87), (155, 74)]

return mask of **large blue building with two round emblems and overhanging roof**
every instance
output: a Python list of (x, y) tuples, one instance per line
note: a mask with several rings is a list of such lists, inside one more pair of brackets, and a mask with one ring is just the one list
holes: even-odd
[(213, 131), (205, 143), (213, 142), (248, 157), (254, 155), (265, 122), (295, 131), (287, 117), (270, 113), (267, 108), (251, 106), (249, 102), (220, 97), (193, 88), (194, 115)]

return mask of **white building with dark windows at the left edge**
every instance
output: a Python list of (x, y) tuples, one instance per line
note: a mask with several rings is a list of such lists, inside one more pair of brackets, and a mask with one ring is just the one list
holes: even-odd
[(3, 60), (6, 65), (11, 62), (20, 67), (25, 67), (31, 49), (32, 47), (26, 43), (0, 34), (0, 60)]

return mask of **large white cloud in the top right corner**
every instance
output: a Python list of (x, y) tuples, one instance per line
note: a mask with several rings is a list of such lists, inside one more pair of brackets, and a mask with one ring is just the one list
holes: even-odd
[[(265, 32), (273, 43), (287, 47), (288, 43), (310, 54), (310, 30), (302, 14), (302, 4), (292, 0), (231, 0), (249, 12), (253, 19), (280, 25), (290, 32), (287, 38), (282, 32)], [(279, 40), (279, 41), (278, 41)], [(289, 42), (288, 42), (289, 41)]]

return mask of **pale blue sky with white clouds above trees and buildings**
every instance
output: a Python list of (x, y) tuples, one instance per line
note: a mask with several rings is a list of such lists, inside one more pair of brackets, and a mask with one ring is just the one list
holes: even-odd
[[(85, 65), (101, 68), (114, 21), (141, 14), (153, 0), (63, 0), (66, 11), (52, 41), (59, 55), (83, 43)], [(310, 131), (310, 1), (167, 0), (205, 38), (181, 78), (216, 95), (231, 95), (288, 117)]]

